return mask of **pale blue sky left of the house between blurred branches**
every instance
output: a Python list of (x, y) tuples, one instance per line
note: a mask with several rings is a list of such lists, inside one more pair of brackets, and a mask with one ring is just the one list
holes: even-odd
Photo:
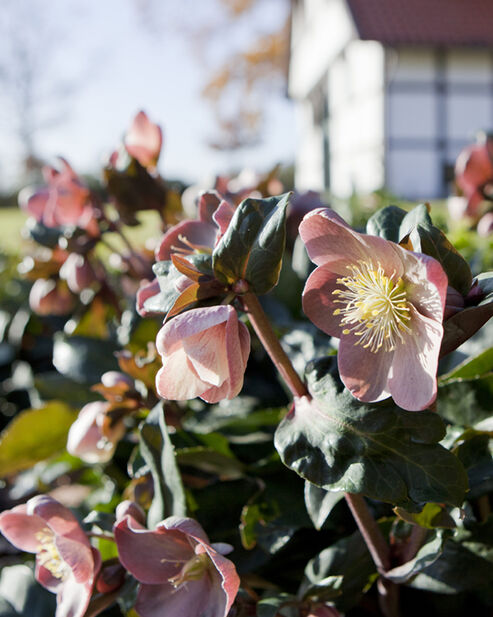
[[(56, 96), (40, 98), (40, 109), (49, 112), (51, 106), (55, 115), (37, 139), (40, 154), (48, 160), (63, 155), (77, 171), (97, 173), (133, 115), (144, 109), (164, 130), (160, 169), (166, 177), (205, 181), (231, 168), (261, 171), (292, 161), (294, 110), (285, 97), (277, 93), (269, 98), (263, 143), (235, 153), (207, 146), (213, 116), (200, 97), (215, 63), (284, 18), (281, 0), (262, 0), (255, 23), (235, 33), (225, 30), (217, 0), (9, 1), (27, 2), (32, 23), (26, 36), (29, 28), (38, 36), (39, 22), (46, 30), (40, 50), (41, 56), (46, 54), (41, 63), (45, 90), (50, 82), (65, 78), (75, 84), (62, 103)], [(189, 33), (202, 23), (212, 26), (207, 44), (192, 45)], [(0, 130), (5, 135), (0, 174), (5, 184), (15, 177), (18, 145), (15, 132), (9, 131), (9, 103), (0, 100)]]

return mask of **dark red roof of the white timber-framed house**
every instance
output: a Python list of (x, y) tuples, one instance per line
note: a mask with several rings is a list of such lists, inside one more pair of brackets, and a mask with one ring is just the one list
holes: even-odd
[(347, 0), (360, 38), (493, 47), (493, 0)]

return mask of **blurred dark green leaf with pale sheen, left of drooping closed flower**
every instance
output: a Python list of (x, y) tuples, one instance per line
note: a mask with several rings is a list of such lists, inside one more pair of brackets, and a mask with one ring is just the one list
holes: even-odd
[(106, 371), (118, 370), (114, 355), (117, 350), (111, 341), (58, 333), (53, 346), (53, 364), (65, 377), (93, 385), (101, 381)]

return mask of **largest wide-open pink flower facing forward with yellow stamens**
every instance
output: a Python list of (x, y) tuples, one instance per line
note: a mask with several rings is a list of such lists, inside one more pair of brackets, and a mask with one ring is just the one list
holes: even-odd
[(318, 266), (303, 291), (303, 309), (321, 330), (340, 338), (344, 385), (361, 401), (392, 396), (407, 410), (436, 397), (436, 371), (447, 276), (427, 255), (351, 229), (329, 208), (300, 225)]

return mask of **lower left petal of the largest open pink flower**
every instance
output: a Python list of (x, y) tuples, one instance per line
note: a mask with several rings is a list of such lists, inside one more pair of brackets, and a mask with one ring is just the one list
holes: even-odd
[(390, 396), (387, 387), (394, 352), (374, 353), (356, 345), (359, 337), (343, 334), (337, 354), (341, 380), (360, 401), (373, 403)]

